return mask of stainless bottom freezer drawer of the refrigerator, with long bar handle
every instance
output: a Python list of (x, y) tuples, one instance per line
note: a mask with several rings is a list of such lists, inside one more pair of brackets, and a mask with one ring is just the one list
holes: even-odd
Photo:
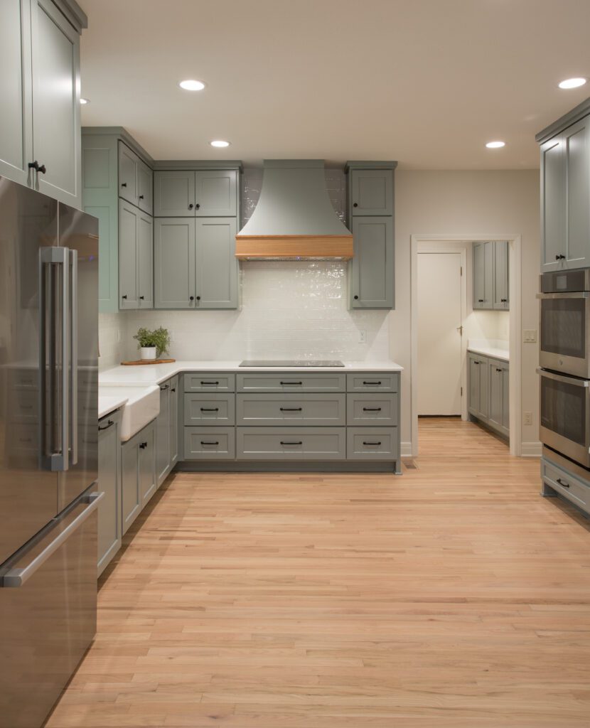
[(97, 505), (82, 494), (0, 578), (0, 728), (37, 728), (96, 633)]

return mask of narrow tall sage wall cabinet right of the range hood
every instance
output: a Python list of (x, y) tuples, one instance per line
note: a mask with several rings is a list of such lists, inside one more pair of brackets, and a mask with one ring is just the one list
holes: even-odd
[(351, 309), (395, 307), (394, 170), (397, 162), (347, 162)]

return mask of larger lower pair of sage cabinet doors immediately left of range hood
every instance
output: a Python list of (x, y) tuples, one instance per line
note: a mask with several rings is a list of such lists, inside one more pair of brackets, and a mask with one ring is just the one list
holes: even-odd
[(155, 306), (235, 309), (236, 218), (156, 218)]

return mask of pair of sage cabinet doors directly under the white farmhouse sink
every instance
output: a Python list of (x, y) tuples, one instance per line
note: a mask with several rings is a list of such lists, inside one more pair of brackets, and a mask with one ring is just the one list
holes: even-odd
[(121, 445), (122, 532), (156, 492), (156, 422)]

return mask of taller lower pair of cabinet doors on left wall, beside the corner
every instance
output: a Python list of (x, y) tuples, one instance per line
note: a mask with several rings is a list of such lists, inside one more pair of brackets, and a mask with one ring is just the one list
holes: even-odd
[(119, 200), (120, 309), (154, 308), (154, 222), (135, 205)]

